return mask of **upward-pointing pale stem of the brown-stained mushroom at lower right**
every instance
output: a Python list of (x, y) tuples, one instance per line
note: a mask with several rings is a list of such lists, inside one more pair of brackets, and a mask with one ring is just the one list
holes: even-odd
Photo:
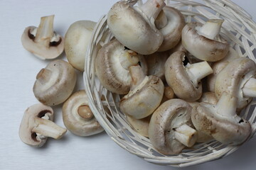
[(224, 92), (215, 106), (216, 113), (231, 118), (231, 116), (236, 115), (237, 103), (238, 98)]

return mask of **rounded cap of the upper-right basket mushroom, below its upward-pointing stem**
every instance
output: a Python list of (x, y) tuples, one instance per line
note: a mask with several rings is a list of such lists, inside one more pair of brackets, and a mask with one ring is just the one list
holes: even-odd
[(201, 26), (201, 23), (187, 23), (184, 26), (181, 34), (183, 46), (200, 60), (216, 62), (223, 59), (229, 51), (228, 42), (221, 37), (221, 41), (218, 41), (199, 35), (196, 28)]

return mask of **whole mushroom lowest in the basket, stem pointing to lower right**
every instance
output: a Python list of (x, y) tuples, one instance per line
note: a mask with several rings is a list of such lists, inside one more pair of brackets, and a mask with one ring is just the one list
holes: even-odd
[(162, 154), (178, 154), (192, 147), (197, 132), (192, 128), (191, 106), (178, 98), (164, 102), (154, 111), (149, 123), (149, 140)]

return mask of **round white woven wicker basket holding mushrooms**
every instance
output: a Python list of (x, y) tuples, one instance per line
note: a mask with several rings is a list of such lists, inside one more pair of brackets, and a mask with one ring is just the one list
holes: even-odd
[[(201, 3), (186, 0), (166, 1), (166, 5), (178, 8), (186, 18), (186, 22), (198, 21), (204, 23), (209, 18), (223, 18), (221, 35), (230, 41), (240, 57), (249, 57), (255, 61), (256, 53), (256, 24), (242, 8), (228, 0), (201, 0)], [(137, 1), (141, 5), (142, 1)], [(238, 147), (226, 146), (215, 140), (199, 143), (193, 149), (184, 149), (181, 154), (166, 156), (159, 154), (152, 147), (148, 138), (135, 132), (127, 122), (125, 115), (119, 111), (119, 95), (112, 94), (102, 87), (95, 76), (95, 57), (97, 50), (112, 38), (107, 28), (107, 17), (103, 16), (97, 23), (90, 46), (87, 48), (85, 58), (84, 83), (89, 96), (90, 108), (99, 120), (107, 134), (120, 147), (132, 154), (142, 157), (147, 162), (170, 166), (191, 166), (214, 159), (220, 159), (234, 152)], [(105, 96), (106, 101), (100, 98)], [(256, 102), (252, 101), (245, 109), (243, 118), (252, 124), (252, 134), (255, 135)], [(106, 107), (110, 111), (105, 110)], [(246, 145), (246, 144), (245, 144)]]

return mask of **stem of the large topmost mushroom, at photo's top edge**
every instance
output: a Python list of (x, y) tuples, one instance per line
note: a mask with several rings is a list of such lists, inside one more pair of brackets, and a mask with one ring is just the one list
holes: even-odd
[(166, 4), (163, 0), (148, 0), (142, 5), (141, 10), (148, 18), (155, 21), (164, 6)]

